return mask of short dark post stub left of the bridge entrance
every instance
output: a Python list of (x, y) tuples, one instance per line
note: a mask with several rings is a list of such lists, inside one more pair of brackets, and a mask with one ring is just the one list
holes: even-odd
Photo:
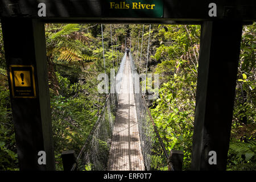
[[(73, 150), (63, 151), (61, 153), (64, 171), (71, 171), (73, 164), (77, 164), (76, 153)], [(75, 171), (77, 170), (77, 165)]]

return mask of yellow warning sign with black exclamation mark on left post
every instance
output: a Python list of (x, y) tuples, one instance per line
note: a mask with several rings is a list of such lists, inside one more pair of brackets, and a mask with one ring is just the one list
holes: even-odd
[(32, 65), (10, 65), (10, 80), (14, 98), (36, 98)]

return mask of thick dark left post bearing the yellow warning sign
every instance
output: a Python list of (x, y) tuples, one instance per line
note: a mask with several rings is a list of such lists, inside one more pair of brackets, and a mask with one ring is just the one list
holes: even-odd
[[(44, 24), (30, 18), (1, 20), (19, 169), (54, 170)], [(39, 164), (39, 151), (46, 152), (46, 164)]]

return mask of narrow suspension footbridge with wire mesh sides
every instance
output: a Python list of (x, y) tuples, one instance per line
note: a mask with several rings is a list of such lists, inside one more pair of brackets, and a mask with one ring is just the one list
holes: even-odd
[(135, 92), (134, 78), (138, 78), (138, 73), (133, 57), (131, 53), (125, 53), (115, 85), (106, 97), (98, 121), (72, 169), (150, 170), (151, 151), (156, 138), (168, 158), (141, 88)]

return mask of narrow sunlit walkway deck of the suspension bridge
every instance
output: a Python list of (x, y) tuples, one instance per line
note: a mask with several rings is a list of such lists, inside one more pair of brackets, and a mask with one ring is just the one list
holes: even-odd
[(117, 117), (108, 162), (109, 171), (144, 171), (129, 58), (123, 70)]

